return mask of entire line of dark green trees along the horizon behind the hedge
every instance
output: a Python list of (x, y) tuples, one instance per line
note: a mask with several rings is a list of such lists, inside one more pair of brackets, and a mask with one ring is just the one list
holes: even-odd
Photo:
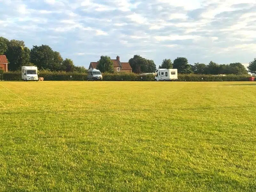
[[(75, 66), (71, 59), (63, 60), (60, 52), (53, 51), (48, 45), (33, 45), (32, 49), (25, 46), (24, 41), (8, 40), (0, 37), (0, 55), (6, 55), (9, 65), (8, 70), (20, 70), (21, 66), (37, 66), (39, 70), (66, 71), (66, 72), (86, 72), (84, 67)], [(113, 62), (109, 56), (101, 56), (98, 61), (98, 69), (101, 72), (114, 72)], [(156, 64), (153, 60), (134, 55), (129, 59), (132, 72), (134, 73), (152, 73), (156, 71)], [(188, 64), (185, 57), (177, 57), (175, 60), (164, 59), (158, 68), (177, 68), (180, 74), (247, 74), (248, 71), (256, 74), (256, 59), (249, 63), (248, 71), (239, 62), (230, 64), (217, 64), (210, 61), (209, 64), (195, 63)]]

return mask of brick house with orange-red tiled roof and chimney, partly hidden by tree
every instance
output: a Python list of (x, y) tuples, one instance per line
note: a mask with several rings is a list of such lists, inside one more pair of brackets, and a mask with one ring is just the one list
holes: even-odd
[[(132, 68), (128, 62), (120, 62), (120, 57), (117, 56), (116, 59), (111, 59), (114, 65), (114, 72), (127, 72), (132, 73)], [(91, 62), (89, 69), (96, 69), (99, 62)]]

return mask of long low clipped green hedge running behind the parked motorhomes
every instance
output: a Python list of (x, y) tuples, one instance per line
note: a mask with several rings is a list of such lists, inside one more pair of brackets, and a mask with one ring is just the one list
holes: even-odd
[[(51, 72), (40, 71), (39, 77), (44, 77), (45, 81), (69, 81), (72, 76), (73, 81), (87, 80), (87, 73), (78, 72)], [(103, 81), (154, 81), (153, 75), (143, 76), (142, 79), (135, 73), (103, 73)], [(226, 75), (226, 76), (213, 76), (213, 75), (196, 75), (196, 74), (178, 74), (178, 80), (174, 81), (249, 81), (250, 75)], [(203, 78), (203, 79), (202, 79)], [(5, 81), (20, 81), (21, 72), (7, 72), (3, 74)]]

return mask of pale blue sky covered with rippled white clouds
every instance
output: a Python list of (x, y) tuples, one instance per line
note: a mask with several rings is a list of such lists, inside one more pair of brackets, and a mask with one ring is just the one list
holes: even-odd
[[(241, 3), (242, 2), (242, 3)], [(0, 0), (0, 36), (47, 44), (77, 66), (101, 55), (161, 65), (186, 57), (219, 64), (256, 57), (255, 0)]]

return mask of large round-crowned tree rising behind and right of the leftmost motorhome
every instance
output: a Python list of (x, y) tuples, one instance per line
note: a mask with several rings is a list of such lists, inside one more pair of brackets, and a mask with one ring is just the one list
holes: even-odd
[(62, 70), (63, 59), (59, 52), (55, 52), (48, 45), (34, 45), (30, 52), (30, 61), (41, 69), (50, 71)]

